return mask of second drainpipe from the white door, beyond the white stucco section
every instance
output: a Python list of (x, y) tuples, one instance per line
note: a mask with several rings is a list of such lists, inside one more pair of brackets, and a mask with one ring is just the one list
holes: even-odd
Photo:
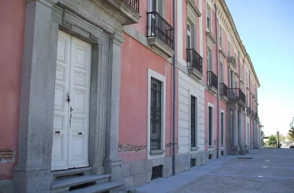
[(219, 158), (219, 150), (220, 150), (220, 134), (219, 134), (219, 130), (220, 130), (220, 104), (219, 104), (219, 99), (220, 99), (220, 95), (219, 95), (219, 87), (220, 87), (220, 84), (219, 84), (219, 45), (218, 45), (218, 23), (217, 23), (217, 5), (215, 5), (215, 20), (216, 20), (216, 50), (217, 50), (217, 89), (218, 89), (218, 93), (217, 93), (217, 106), (218, 106), (218, 126), (217, 126), (217, 129), (218, 129), (218, 146), (217, 146), (217, 158)]

